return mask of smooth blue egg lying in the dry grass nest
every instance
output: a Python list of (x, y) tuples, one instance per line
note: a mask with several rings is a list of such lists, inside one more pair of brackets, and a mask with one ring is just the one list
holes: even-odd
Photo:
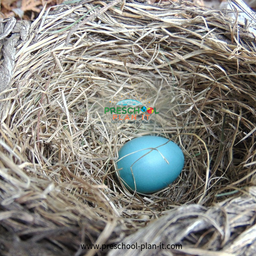
[(180, 175), (184, 155), (177, 144), (156, 136), (142, 136), (126, 142), (118, 151), (121, 182), (143, 194), (166, 188)]

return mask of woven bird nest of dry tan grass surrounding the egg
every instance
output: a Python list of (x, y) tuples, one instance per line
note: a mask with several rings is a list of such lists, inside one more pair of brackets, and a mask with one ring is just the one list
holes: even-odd
[[(1, 111), (0, 254), (254, 255), (254, 36), (190, 3), (119, 1), (99, 14), (109, 3), (42, 12), (17, 48)], [(159, 114), (111, 124), (104, 107), (122, 96)], [(170, 187), (132, 194), (117, 151), (146, 134), (176, 142), (185, 165)], [(182, 249), (81, 248), (122, 243)]]

